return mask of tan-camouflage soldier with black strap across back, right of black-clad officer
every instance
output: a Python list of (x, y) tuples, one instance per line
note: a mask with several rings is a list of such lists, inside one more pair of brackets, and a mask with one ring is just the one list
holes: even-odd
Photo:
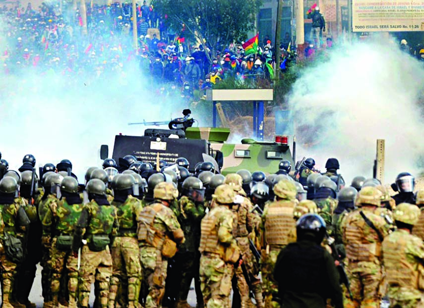
[[(352, 300), (347, 299), (346, 308), (380, 306), (383, 288), (380, 250), (382, 239), (389, 232), (384, 219), (373, 212), (380, 206), (381, 196), (375, 187), (364, 187), (357, 196), (360, 208), (347, 214), (341, 222), (347, 275), (353, 294)], [(368, 225), (361, 212), (377, 231)]]

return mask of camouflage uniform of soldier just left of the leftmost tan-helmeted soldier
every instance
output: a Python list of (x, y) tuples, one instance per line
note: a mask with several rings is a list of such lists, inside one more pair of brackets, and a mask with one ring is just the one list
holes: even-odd
[(138, 305), (140, 293), (141, 265), (136, 238), (136, 219), (142, 209), (141, 202), (137, 198), (128, 196), (124, 203), (114, 201), (112, 205), (117, 208), (119, 232), (111, 251), (113, 275), (109, 289), (109, 307), (115, 307), (120, 281), (127, 280), (128, 307), (133, 308)]

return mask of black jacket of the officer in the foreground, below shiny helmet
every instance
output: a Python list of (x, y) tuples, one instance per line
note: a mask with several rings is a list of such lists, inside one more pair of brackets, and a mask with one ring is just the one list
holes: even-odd
[(281, 308), (325, 308), (327, 298), (343, 308), (342, 288), (334, 259), (309, 240), (281, 250), (274, 268)]

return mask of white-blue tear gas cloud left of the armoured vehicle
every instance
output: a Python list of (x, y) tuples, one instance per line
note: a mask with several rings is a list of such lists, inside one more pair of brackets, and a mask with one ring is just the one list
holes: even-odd
[[(1, 51), (7, 40), (16, 38), (2, 34)], [(25, 154), (36, 157), (36, 167), (66, 158), (83, 182), (89, 166), (101, 166), (100, 145), (109, 145), (111, 157), (115, 135), (143, 135), (146, 127), (128, 122), (182, 116), (180, 98), (161, 96), (150, 77), (141, 75), (138, 60), (132, 61), (100, 77), (94, 69), (92, 76), (31, 67), (0, 73), (0, 151), (9, 169), (17, 170)]]

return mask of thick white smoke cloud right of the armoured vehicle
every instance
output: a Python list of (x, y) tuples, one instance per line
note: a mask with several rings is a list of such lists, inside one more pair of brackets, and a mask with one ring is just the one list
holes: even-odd
[(423, 62), (387, 39), (347, 43), (328, 56), (306, 69), (289, 95), (297, 134), (312, 144), (298, 156), (314, 157), (322, 170), (328, 157), (337, 157), (350, 183), (356, 175), (372, 176), (376, 139), (385, 139), (385, 182), (402, 171), (418, 175)]

